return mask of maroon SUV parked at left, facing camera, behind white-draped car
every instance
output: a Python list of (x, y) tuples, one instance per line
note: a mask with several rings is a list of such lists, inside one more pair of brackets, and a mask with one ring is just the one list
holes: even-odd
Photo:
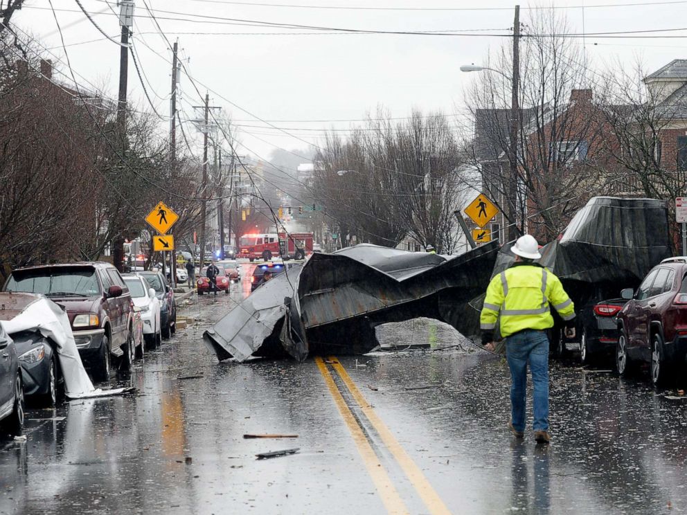
[(76, 346), (96, 381), (107, 381), (111, 356), (130, 370), (135, 356), (134, 304), (122, 276), (105, 262), (13, 270), (3, 291), (42, 293), (69, 315)]

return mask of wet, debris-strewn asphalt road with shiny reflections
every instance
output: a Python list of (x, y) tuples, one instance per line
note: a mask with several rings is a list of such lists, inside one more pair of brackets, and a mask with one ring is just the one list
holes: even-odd
[(687, 512), (675, 388), (553, 361), (537, 446), (506, 429), (505, 363), (433, 321), (381, 333), (429, 349), (217, 363), (201, 334), (247, 286), (180, 309), (199, 322), (111, 379), (136, 394), (29, 410), (27, 442), (0, 442), (0, 513)]

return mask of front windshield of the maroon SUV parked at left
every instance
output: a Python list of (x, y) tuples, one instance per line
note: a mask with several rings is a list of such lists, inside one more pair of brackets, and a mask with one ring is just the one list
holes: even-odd
[(43, 293), (46, 296), (91, 297), (100, 295), (100, 285), (93, 268), (33, 269), (10, 275), (6, 291)]

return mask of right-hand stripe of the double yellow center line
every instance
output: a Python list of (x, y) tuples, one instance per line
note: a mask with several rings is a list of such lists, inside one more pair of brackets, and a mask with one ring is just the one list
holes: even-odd
[(415, 462), (413, 462), (413, 459), (406, 453), (401, 444), (398, 443), (398, 440), (396, 440), (391, 431), (389, 431), (389, 428), (386, 427), (386, 424), (382, 422), (382, 419), (377, 416), (375, 410), (373, 410), (368, 401), (365, 400), (365, 397), (363, 397), (360, 390), (358, 390), (358, 387), (355, 386), (353, 379), (350, 379), (346, 369), (341, 366), (339, 360), (334, 356), (330, 356), (329, 359), (330, 361), (334, 361), (334, 364), (332, 365), (334, 370), (337, 371), (337, 374), (339, 374), (339, 377), (341, 377), (343, 383), (346, 384), (346, 387), (348, 390), (350, 390), (351, 395), (353, 395), (353, 398), (358, 403), (365, 416), (377, 430), (377, 433), (379, 433), (380, 437), (382, 438), (382, 442), (384, 442), (384, 445), (386, 445), (386, 448), (391, 451), (410, 482), (413, 483), (413, 486), (418, 491), (418, 494), (420, 494), (420, 498), (422, 498), (422, 501), (429, 509), (429, 512), (435, 515), (450, 515), (451, 512), (443, 503), (443, 500), (441, 500), (434, 488), (431, 487), (429, 481), (427, 481), (427, 478), (425, 478), (425, 475), (415, 464)]

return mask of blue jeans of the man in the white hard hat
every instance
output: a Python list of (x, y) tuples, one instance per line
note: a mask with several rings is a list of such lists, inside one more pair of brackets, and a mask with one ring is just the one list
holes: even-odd
[(535, 431), (548, 431), (548, 338), (546, 332), (526, 329), (506, 338), (510, 368), (510, 405), (513, 427), (525, 431), (527, 364), (534, 386)]

